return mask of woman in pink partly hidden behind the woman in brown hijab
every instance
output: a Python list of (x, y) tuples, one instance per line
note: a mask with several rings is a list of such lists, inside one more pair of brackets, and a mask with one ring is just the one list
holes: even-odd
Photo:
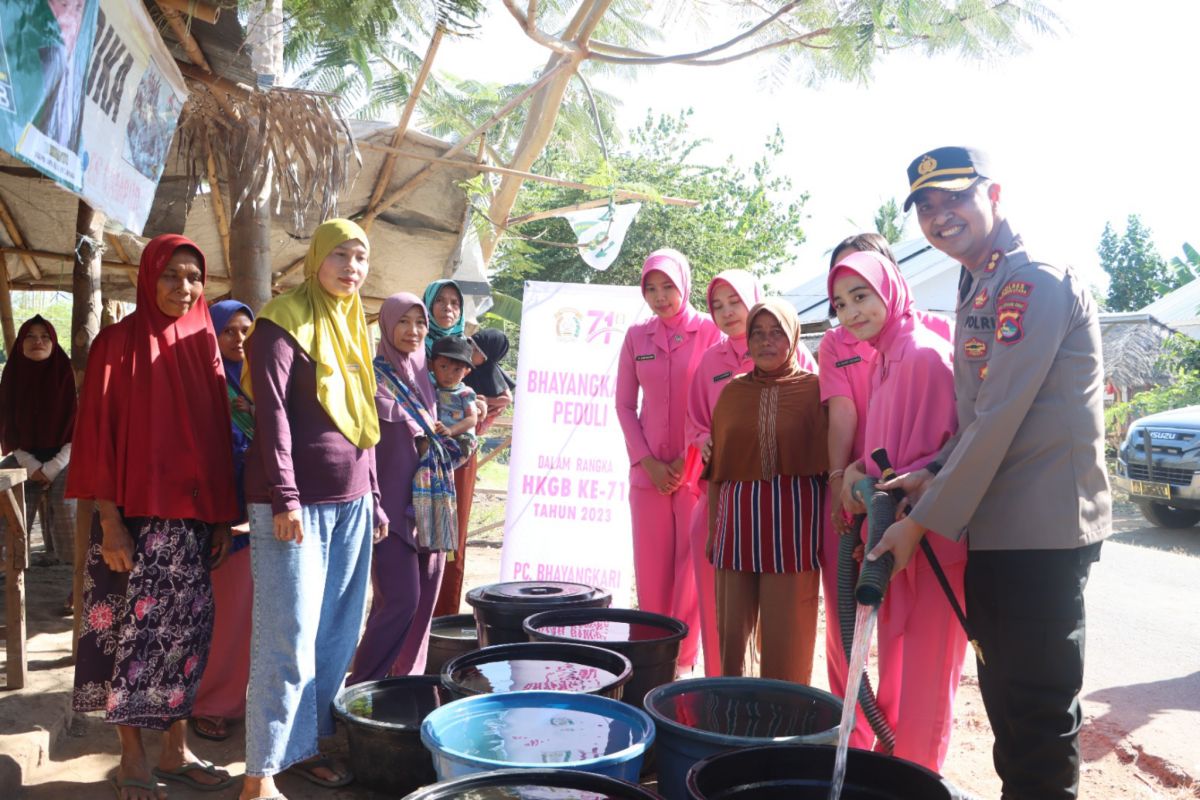
[[(708, 284), (708, 311), (720, 329), (721, 339), (708, 348), (691, 379), (688, 393), (688, 444), (696, 447), (707, 464), (713, 451), (713, 409), (721, 390), (731, 379), (754, 369), (746, 344), (746, 317), (750, 307), (762, 300), (758, 278), (745, 270), (725, 270)], [(805, 372), (816, 372), (812, 354), (803, 344), (797, 361)], [(696, 503), (691, 513), (691, 563), (696, 571), (696, 595), (700, 601), (700, 640), (704, 654), (704, 674), (721, 674), (721, 651), (716, 638), (716, 571), (704, 558), (708, 541), (708, 483), (697, 481)]]

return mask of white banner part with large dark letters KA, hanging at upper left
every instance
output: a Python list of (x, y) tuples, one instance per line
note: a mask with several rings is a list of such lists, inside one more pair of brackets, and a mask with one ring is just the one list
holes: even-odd
[(79, 193), (140, 234), (187, 102), (184, 76), (140, 2), (101, 0), (84, 89)]

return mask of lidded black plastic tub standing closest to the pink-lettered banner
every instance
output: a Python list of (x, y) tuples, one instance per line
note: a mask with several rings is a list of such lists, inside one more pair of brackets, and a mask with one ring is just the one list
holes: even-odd
[(514, 581), (478, 587), (467, 593), (475, 610), (479, 645), (528, 642), (527, 616), (556, 608), (607, 608), (612, 595), (583, 583)]

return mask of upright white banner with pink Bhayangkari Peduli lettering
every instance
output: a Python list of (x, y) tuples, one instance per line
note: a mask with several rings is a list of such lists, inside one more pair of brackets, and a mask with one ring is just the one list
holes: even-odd
[(649, 311), (637, 287), (527, 282), (502, 581), (602, 587), (629, 606), (629, 455), (617, 360)]

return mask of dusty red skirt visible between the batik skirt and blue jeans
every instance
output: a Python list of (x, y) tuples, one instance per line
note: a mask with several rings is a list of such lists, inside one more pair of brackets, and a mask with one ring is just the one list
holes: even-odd
[(254, 583), (250, 548), (244, 547), (212, 571), (212, 645), (196, 691), (192, 716), (238, 718), (246, 715), (250, 682), (250, 619)]

